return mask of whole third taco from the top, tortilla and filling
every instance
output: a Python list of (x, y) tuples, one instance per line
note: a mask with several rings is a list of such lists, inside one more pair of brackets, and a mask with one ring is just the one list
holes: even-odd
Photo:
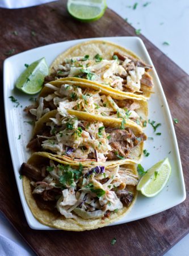
[(138, 162), (146, 135), (136, 123), (77, 110), (53, 110), (41, 117), (27, 147), (70, 162)]

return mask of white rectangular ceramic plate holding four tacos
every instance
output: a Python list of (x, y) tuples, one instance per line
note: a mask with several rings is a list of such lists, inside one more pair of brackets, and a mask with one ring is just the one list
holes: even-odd
[[(21, 164), (27, 162), (27, 159), (30, 157), (30, 152), (27, 151), (26, 145), (31, 138), (32, 126), (27, 123), (30, 119), (24, 114), (23, 109), (25, 106), (31, 105), (31, 96), (27, 96), (26, 94), (15, 90), (14, 84), (20, 73), (23, 72), (25, 68), (24, 64), (31, 64), (33, 61), (45, 57), (47, 63), (50, 65), (54, 58), (61, 52), (75, 44), (91, 39), (73, 40), (31, 49), (30, 51), (9, 57), (4, 62), (4, 100), (9, 147), (20, 199), (22, 201), (27, 222), (32, 229), (50, 230), (52, 228), (40, 224), (40, 222), (33, 217), (24, 198), (22, 180), (19, 178), (19, 168)], [(153, 65), (144, 43), (140, 38), (116, 37), (96, 39), (108, 40), (131, 49), (131, 51), (135, 52), (146, 63)], [(161, 82), (159, 81), (154, 67), (152, 76), (155, 85), (155, 93), (152, 94), (152, 97), (149, 100), (149, 119), (161, 123), (161, 126), (157, 129), (157, 133), (161, 133), (161, 135), (156, 135), (151, 125), (146, 127), (145, 133), (148, 137), (151, 137), (151, 139), (148, 139), (148, 141), (145, 142), (145, 149), (150, 152), (150, 155), (148, 157), (144, 156), (141, 164), (145, 170), (147, 170), (153, 166), (154, 163), (157, 163), (159, 160), (168, 156), (172, 167), (171, 176), (166, 187), (156, 197), (147, 198), (138, 193), (136, 204), (131, 212), (111, 225), (138, 220), (162, 212), (163, 210), (182, 203), (186, 198), (182, 166), (173, 121), (171, 119), (169, 106), (167, 105)], [(12, 102), (9, 98), (10, 96), (14, 96), (18, 100), (19, 105), (16, 102)]]

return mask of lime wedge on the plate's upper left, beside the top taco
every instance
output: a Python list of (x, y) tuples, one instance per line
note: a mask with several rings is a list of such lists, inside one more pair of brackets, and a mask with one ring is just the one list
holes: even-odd
[(27, 94), (39, 93), (42, 89), (45, 76), (49, 68), (45, 58), (37, 60), (29, 65), (16, 81), (16, 88)]

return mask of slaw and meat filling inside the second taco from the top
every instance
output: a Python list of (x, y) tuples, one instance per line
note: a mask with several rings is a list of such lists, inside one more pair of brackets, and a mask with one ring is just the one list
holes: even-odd
[(52, 93), (39, 97), (36, 106), (28, 106), (25, 109), (36, 119), (58, 108), (60, 111), (73, 109), (105, 117), (131, 119), (141, 126), (145, 122), (145, 117), (141, 117), (141, 114), (144, 115), (144, 107), (140, 100), (115, 100), (110, 95), (100, 93), (100, 90), (69, 84), (62, 84), (60, 87), (45, 84), (45, 87), (52, 89)]

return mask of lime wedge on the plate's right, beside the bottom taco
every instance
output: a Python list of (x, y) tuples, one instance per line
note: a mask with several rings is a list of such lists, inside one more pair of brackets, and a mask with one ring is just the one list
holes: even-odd
[(141, 177), (137, 190), (144, 196), (156, 196), (165, 187), (171, 174), (169, 159), (163, 159), (152, 166), (146, 174)]

